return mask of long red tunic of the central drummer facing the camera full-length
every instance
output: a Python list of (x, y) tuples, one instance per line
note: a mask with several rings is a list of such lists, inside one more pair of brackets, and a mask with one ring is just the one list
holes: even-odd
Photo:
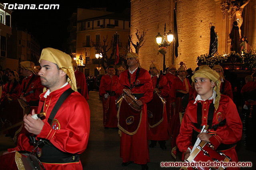
[[(135, 82), (136, 72), (130, 74), (128, 70), (125, 70), (119, 76), (117, 84), (117, 94), (121, 95), (123, 89), (127, 89), (125, 86), (130, 87), (128, 80), (128, 74), (130, 74), (131, 83)], [(150, 78), (150, 74), (147, 70), (140, 68), (140, 74), (136, 80), (136, 84), (143, 84), (132, 89), (133, 93), (144, 93), (144, 96), (140, 98), (143, 102), (142, 106), (142, 120), (137, 133), (134, 135), (127, 135), (122, 132), (120, 139), (120, 157), (123, 158), (123, 162), (134, 161), (135, 164), (146, 164), (149, 162), (148, 152), (148, 140), (147, 140), (147, 105), (153, 98), (153, 86)]]

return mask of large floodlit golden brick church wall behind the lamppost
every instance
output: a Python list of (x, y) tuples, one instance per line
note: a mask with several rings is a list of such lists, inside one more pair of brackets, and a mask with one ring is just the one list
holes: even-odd
[[(176, 67), (183, 61), (186, 67), (195, 69), (197, 56), (209, 53), (210, 23), (218, 34), (218, 53), (230, 53), (229, 33), (232, 29), (234, 10), (228, 13), (230, 5), (225, 0), (131, 0), (131, 35), (137, 31), (146, 31), (146, 42), (140, 48), (139, 56), (142, 67), (148, 68), (154, 60), (163, 68), (163, 55), (158, 53), (156, 35), (173, 31), (174, 8), (178, 27), (178, 57), (172, 53), (172, 44), (166, 53), (166, 66), (174, 63)], [(256, 45), (256, 0), (243, 10), (242, 35), (248, 37), (249, 44)], [(132, 37), (136, 42), (136, 37)]]

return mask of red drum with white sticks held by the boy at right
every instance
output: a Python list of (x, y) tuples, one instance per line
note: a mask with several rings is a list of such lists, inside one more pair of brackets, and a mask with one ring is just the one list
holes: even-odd
[[(230, 162), (230, 158), (223, 154), (223, 152), (217, 152), (215, 149), (213, 149), (213, 145), (202, 141), (196, 149), (190, 154), (187, 162)], [(226, 167), (200, 167), (200, 166), (194, 166), (194, 167), (186, 167), (182, 169), (188, 169), (188, 170), (210, 170), (210, 169), (216, 169), (216, 170), (224, 170)]]

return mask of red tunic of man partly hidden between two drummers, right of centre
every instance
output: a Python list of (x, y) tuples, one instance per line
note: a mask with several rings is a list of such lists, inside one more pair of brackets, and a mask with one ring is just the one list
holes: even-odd
[[(174, 79), (176, 78), (176, 76), (170, 72), (168, 72), (166, 75), (166, 78), (168, 80), (168, 84), (170, 86), (170, 92), (172, 90), (172, 86), (173, 86), (173, 81)], [(168, 98), (166, 99), (166, 112), (167, 112), (167, 120), (169, 122), (169, 120), (172, 118), (173, 116), (173, 112), (174, 112), (174, 109), (172, 108), (172, 99), (170, 96), (168, 96)]]

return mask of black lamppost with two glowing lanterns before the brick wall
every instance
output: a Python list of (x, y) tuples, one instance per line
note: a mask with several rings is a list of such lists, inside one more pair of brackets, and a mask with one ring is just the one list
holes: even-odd
[[(166, 39), (167, 37), (167, 39)], [(164, 36), (160, 35), (160, 33), (158, 33), (158, 35), (156, 35), (156, 43), (158, 43), (159, 48), (160, 47), (168, 47), (171, 45), (173, 41), (173, 33), (171, 30), (169, 30), (169, 32), (166, 34), (166, 23), (164, 23)], [(165, 54), (166, 51), (159, 51), (162, 55), (164, 55), (164, 63), (163, 63), (163, 72), (165, 72)]]

